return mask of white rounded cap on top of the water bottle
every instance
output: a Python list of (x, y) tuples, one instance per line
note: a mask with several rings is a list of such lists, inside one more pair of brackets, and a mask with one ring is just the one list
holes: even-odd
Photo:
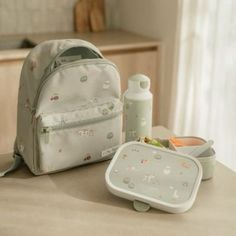
[(128, 80), (128, 90), (134, 93), (149, 91), (150, 79), (143, 74), (135, 74)]

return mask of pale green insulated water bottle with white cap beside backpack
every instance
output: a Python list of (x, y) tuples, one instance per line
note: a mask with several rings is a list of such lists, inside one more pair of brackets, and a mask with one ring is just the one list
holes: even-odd
[(139, 137), (151, 136), (152, 94), (150, 79), (136, 74), (128, 80), (128, 90), (124, 93), (125, 142)]

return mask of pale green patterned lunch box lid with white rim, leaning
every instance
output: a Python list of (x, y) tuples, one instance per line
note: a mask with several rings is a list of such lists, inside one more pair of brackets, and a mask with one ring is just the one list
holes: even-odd
[(109, 191), (133, 201), (136, 210), (171, 213), (192, 207), (201, 178), (197, 159), (140, 142), (123, 144), (105, 174)]

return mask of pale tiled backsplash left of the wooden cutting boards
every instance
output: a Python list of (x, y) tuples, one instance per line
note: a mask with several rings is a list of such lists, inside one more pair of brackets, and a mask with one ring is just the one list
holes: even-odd
[(70, 32), (77, 0), (0, 0), (0, 35)]

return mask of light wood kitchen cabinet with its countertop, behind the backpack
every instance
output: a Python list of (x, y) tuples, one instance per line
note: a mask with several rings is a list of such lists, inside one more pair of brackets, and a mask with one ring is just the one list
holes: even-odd
[[(5, 36), (7, 37), (7, 36)], [(11, 38), (14, 36), (11, 36)], [(16, 37), (20, 37), (19, 35)], [(56, 33), (22, 35), (38, 44), (44, 40), (79, 38), (95, 44), (103, 55), (114, 62), (121, 74), (122, 93), (127, 89), (129, 76), (146, 74), (151, 79), (153, 93), (153, 125), (158, 124), (158, 81), (161, 43), (121, 30), (99, 33)], [(16, 135), (16, 107), (20, 71), (29, 49), (0, 51), (0, 153), (12, 151)]]

